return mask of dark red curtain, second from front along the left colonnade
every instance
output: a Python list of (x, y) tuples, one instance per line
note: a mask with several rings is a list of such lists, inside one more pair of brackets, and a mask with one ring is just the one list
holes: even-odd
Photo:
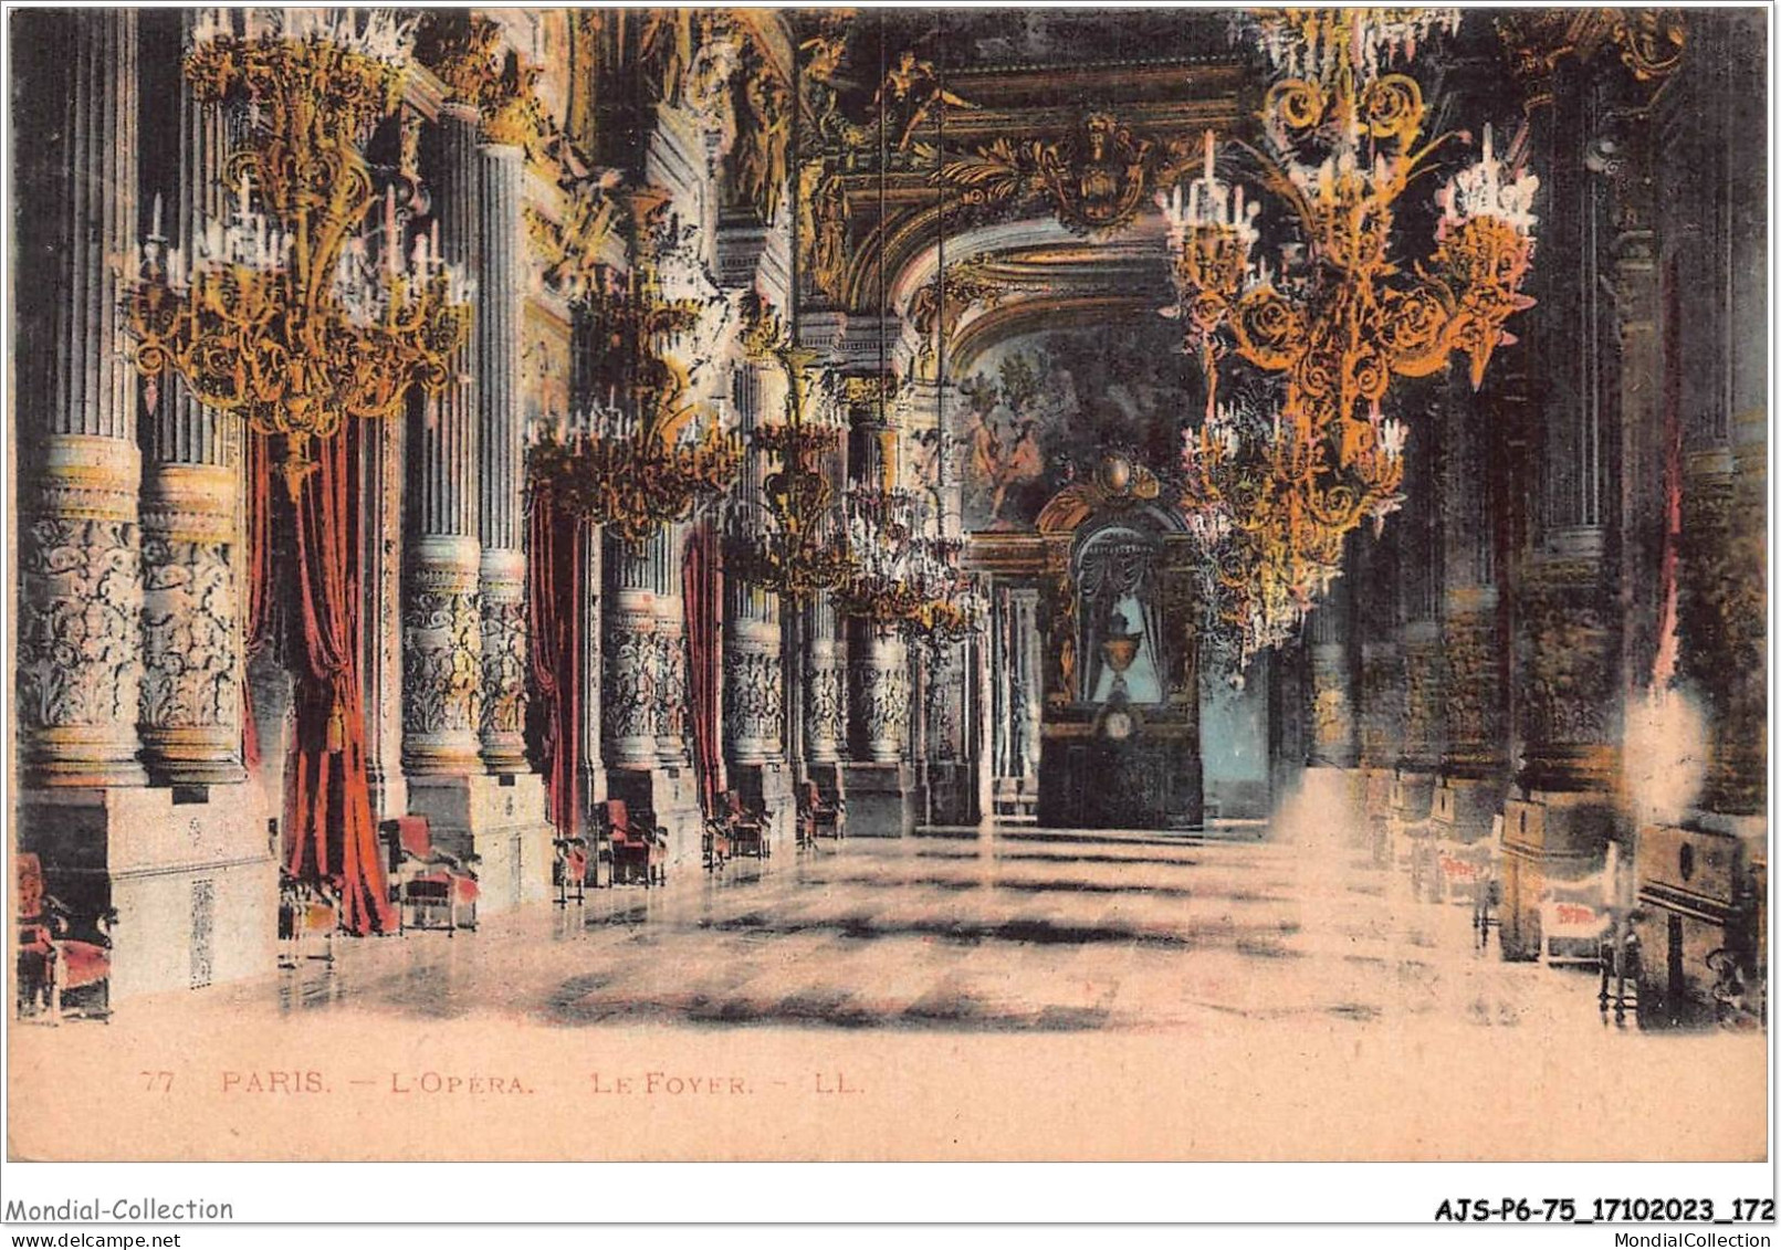
[(538, 694), (540, 757), (550, 798), (550, 823), (563, 837), (582, 832), (581, 689), (584, 527), (556, 507), (547, 491), (527, 504), (525, 593), (533, 620), (533, 689)]

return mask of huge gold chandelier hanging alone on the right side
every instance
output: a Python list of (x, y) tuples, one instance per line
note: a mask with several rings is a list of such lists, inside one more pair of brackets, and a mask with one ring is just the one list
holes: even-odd
[[(1275, 271), (1256, 258), (1261, 205), (1216, 175), (1208, 132), (1199, 178), (1159, 205), (1170, 226), (1184, 349), (1199, 358), (1208, 417), (1183, 449), (1190, 524), (1208, 547), (1213, 632), (1238, 662), (1284, 641), (1327, 589), (1346, 534), (1393, 511), (1405, 427), (1386, 417), (1395, 377), (1459, 353), (1473, 386), (1512, 342), (1505, 321), (1533, 255), (1539, 182), (1494, 151), (1450, 178), (1427, 262), (1395, 260), (1396, 203), (1453, 135), (1423, 142), (1427, 107), (1409, 73), (1457, 11), (1284, 9), (1248, 18), (1279, 75), (1261, 121), (1268, 153), (1240, 144), (1289, 208), (1295, 239)], [(1218, 402), (1241, 363), (1275, 392), (1266, 422)], [(1240, 406), (1247, 408), (1247, 406)], [(1247, 427), (1245, 427), (1247, 426)]]

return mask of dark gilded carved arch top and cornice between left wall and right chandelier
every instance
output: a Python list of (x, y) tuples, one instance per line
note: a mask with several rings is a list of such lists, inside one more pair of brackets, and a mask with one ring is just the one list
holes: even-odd
[(964, 265), (944, 287), (960, 365), (1170, 303), (1154, 196), (1254, 112), (1224, 12), (873, 11), (800, 37), (800, 151), (832, 191), (810, 212), (844, 231), (830, 271), (805, 267), (807, 306), (908, 317)]

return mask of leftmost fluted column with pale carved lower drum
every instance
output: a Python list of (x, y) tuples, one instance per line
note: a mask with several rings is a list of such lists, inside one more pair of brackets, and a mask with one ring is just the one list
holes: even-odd
[(139, 785), (139, 381), (119, 264), (137, 235), (137, 14), (30, 21), (53, 28), (64, 61), (14, 114), (14, 169), (27, 187), (12, 356), (21, 764), (28, 783)]

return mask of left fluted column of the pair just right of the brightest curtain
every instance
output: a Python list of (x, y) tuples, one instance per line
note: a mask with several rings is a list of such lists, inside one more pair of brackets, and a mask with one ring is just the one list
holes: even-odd
[[(468, 267), (479, 215), (476, 109), (445, 105), (436, 137), (440, 248), (447, 260)], [(481, 328), (474, 326), (470, 361), (479, 356), (481, 338)], [(419, 490), (403, 605), (403, 764), (410, 775), (479, 773), (483, 543), (472, 377), (456, 377), (424, 406), (419, 440), (408, 449), (419, 461), (413, 472)]]

